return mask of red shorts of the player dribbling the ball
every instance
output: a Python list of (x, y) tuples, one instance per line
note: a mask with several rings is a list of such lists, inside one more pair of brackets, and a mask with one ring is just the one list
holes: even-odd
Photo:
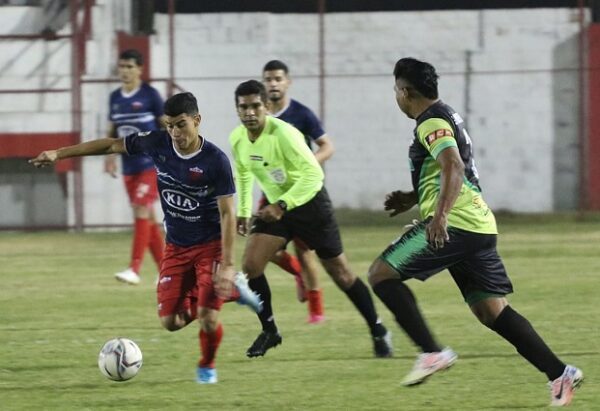
[(224, 301), (215, 292), (213, 274), (220, 263), (221, 240), (191, 247), (167, 243), (156, 287), (158, 315), (174, 315), (190, 304), (219, 310)]

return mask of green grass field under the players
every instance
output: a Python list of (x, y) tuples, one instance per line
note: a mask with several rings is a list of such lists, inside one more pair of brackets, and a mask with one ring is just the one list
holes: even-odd
[[(341, 213), (347, 255), (364, 273), (408, 220)], [(571, 409), (600, 410), (600, 219), (505, 217), (500, 253), (515, 286), (513, 306), (534, 324), (586, 383)], [(217, 359), (219, 384), (194, 382), (197, 327), (169, 333), (156, 318), (155, 267), (148, 256), (140, 286), (117, 283), (128, 233), (0, 233), (0, 410), (522, 410), (549, 402), (545, 377), (479, 325), (447, 273), (414, 281), (436, 335), (459, 361), (416, 388), (399, 381), (415, 348), (377, 300), (394, 333), (395, 357), (374, 359), (368, 331), (350, 302), (322, 274), (327, 321), (307, 325), (294, 281), (268, 276), (283, 344), (264, 358), (245, 350), (258, 321), (227, 304)], [(239, 256), (243, 240), (238, 243)], [(239, 259), (238, 259), (239, 261)], [(115, 336), (138, 342), (140, 374), (125, 383), (96, 365)]]

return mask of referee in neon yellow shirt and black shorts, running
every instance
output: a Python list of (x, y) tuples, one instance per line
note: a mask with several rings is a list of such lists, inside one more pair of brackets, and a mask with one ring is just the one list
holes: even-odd
[[(267, 92), (258, 81), (241, 83), (235, 90), (235, 102), (242, 122), (229, 137), (238, 191), (237, 230), (244, 236), (249, 232), (242, 269), (250, 288), (263, 300), (258, 315), (262, 332), (246, 355), (263, 356), (281, 344), (264, 269), (277, 251), (298, 238), (315, 250), (327, 273), (367, 322), (375, 356), (391, 357), (391, 334), (379, 320), (368, 288), (348, 266), (331, 200), (323, 187), (323, 170), (304, 136), (290, 124), (267, 115)], [(249, 227), (254, 180), (268, 204)]]

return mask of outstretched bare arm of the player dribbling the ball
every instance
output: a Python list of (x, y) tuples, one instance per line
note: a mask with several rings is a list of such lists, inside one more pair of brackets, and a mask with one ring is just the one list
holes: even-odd
[(87, 141), (74, 146), (61, 147), (57, 150), (43, 151), (29, 163), (36, 167), (44, 167), (54, 164), (58, 160), (71, 157), (99, 156), (106, 154), (126, 153), (125, 140), (122, 138), (101, 138)]

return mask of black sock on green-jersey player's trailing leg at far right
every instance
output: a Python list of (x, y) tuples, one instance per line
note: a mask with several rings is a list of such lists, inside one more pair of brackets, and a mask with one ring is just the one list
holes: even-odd
[(562, 375), (565, 364), (548, 348), (531, 323), (510, 305), (502, 310), (491, 328), (514, 345), (517, 352), (546, 374), (550, 381)]

